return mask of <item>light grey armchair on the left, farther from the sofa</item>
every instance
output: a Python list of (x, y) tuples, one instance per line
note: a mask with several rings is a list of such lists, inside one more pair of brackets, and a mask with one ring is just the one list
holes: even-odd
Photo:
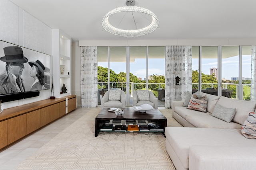
[(101, 99), (101, 109), (125, 108), (125, 92), (123, 90), (108, 90)]

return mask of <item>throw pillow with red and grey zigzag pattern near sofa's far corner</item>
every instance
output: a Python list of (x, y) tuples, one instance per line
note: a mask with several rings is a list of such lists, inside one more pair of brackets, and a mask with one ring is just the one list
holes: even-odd
[[(196, 98), (193, 98), (196, 97)], [(207, 98), (206, 96), (202, 96), (201, 98), (197, 98), (196, 95), (192, 95), (189, 104), (188, 104), (188, 109), (196, 110), (196, 111), (202, 111), (206, 112), (206, 107), (207, 107)]]

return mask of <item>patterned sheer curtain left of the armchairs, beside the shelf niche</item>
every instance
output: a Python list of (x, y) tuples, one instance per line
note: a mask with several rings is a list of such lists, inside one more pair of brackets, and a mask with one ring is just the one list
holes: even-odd
[(98, 106), (97, 47), (81, 47), (81, 106)]

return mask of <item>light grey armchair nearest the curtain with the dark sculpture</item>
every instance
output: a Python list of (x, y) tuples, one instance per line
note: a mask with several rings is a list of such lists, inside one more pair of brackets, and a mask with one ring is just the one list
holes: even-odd
[(150, 90), (136, 90), (133, 92), (132, 106), (140, 106), (142, 104), (150, 104), (154, 109), (158, 108), (157, 98)]

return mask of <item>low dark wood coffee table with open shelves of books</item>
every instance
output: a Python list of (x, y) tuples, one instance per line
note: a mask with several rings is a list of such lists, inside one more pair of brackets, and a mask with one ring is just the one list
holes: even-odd
[[(114, 112), (108, 111), (108, 108), (104, 108), (95, 118), (95, 137), (97, 137), (101, 132), (100, 127), (103, 125), (103, 123), (110, 120), (147, 120), (158, 122), (162, 127), (164, 127), (164, 129), (167, 126), (166, 117), (158, 109), (149, 110), (146, 111), (146, 113), (141, 113), (139, 111), (134, 111), (132, 107), (128, 107), (124, 108), (124, 114), (118, 116)], [(164, 131), (161, 132), (164, 135)]]

